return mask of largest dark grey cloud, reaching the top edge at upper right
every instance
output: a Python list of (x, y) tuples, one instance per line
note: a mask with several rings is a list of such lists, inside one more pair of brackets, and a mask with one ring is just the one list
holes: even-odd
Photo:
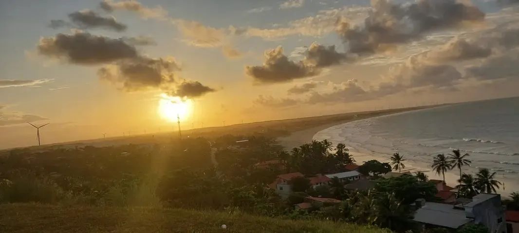
[(362, 26), (340, 22), (337, 33), (349, 52), (374, 53), (403, 43), (425, 32), (452, 27), (464, 21), (481, 21), (485, 14), (455, 0), (418, 0), (412, 4), (372, 2), (372, 11)]

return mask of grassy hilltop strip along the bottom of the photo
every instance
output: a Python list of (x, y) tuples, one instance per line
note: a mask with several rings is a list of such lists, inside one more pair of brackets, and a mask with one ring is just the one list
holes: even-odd
[[(222, 224), (227, 229), (222, 229)], [(0, 232), (348, 232), (386, 233), (365, 226), (292, 221), (248, 214), (162, 208), (0, 205)]]

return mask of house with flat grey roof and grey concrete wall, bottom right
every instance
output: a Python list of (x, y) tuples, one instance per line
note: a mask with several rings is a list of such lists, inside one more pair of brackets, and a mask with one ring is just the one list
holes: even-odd
[(489, 232), (507, 232), (499, 194), (479, 194), (469, 203), (456, 202), (454, 205), (418, 199), (415, 205), (417, 210), (413, 221), (421, 224), (424, 230), (434, 227), (459, 229), (466, 224), (483, 224)]

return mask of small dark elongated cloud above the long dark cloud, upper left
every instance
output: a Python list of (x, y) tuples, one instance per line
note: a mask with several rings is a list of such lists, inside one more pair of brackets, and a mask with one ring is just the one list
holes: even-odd
[(81, 10), (70, 13), (69, 18), (80, 28), (103, 27), (117, 32), (125, 31), (127, 28), (125, 24), (117, 22), (114, 17), (102, 17), (91, 10)]

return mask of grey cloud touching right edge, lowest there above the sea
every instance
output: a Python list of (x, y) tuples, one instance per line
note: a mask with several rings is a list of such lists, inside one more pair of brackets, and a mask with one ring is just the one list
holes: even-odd
[(517, 78), (519, 74), (519, 50), (490, 57), (482, 64), (467, 68), (467, 76), (480, 80)]

